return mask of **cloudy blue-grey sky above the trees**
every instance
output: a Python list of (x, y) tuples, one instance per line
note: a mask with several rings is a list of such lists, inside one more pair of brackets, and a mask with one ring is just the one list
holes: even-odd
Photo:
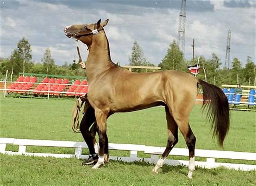
[[(128, 64), (134, 41), (147, 61), (156, 66), (178, 36), (181, 0), (0, 0), (0, 57), (9, 57), (25, 36), (31, 44), (32, 60), (41, 62), (50, 48), (56, 64), (72, 63), (76, 43), (65, 36), (67, 25), (109, 19), (104, 27), (112, 61)], [(230, 62), (238, 57), (256, 59), (256, 1), (187, 0), (185, 58), (210, 58), (215, 53), (224, 64), (228, 30), (231, 30)], [(79, 43), (83, 61), (88, 51)]]

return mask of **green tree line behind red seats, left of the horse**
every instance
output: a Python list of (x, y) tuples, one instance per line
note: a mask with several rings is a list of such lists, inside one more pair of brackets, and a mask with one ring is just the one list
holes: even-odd
[(4, 80), (8, 70), (8, 80), (15, 81), (20, 72), (36, 74), (57, 74), (66, 76), (84, 76), (84, 70), (79, 67), (78, 61), (74, 58), (71, 64), (64, 62), (63, 65), (55, 64), (51, 56), (51, 50), (45, 49), (41, 62), (33, 62), (31, 45), (23, 37), (12, 51), (8, 58), (0, 58), (1, 80)]

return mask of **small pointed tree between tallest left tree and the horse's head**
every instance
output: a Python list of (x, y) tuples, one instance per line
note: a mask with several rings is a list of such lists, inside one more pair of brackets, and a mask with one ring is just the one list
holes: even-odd
[(45, 49), (45, 53), (44, 53), (44, 57), (42, 58), (42, 62), (43, 62), (43, 67), (44, 67), (44, 73), (46, 73), (48, 75), (48, 73), (50, 74), (54, 74), (54, 70), (56, 69), (54, 60), (51, 56), (51, 50), (49, 48)]

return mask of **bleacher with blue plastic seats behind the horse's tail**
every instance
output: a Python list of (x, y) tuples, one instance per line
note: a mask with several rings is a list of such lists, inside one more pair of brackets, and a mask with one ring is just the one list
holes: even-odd
[(230, 109), (256, 110), (255, 89), (256, 86), (241, 85), (242, 94), (235, 94), (236, 85), (222, 85), (222, 90), (228, 98)]

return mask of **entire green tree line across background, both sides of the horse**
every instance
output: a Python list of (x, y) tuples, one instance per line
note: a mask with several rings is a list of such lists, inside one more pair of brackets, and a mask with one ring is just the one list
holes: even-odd
[[(66, 76), (84, 76), (84, 71), (79, 67), (78, 61), (75, 59), (72, 63), (64, 62), (58, 66), (51, 56), (51, 50), (45, 49), (41, 62), (33, 62), (31, 55), (31, 45), (23, 37), (17, 44), (8, 58), (0, 58), (1, 80), (4, 79), (6, 70), (8, 69), (8, 80), (15, 81), (20, 72), (37, 73), (37, 74), (58, 74)], [(197, 59), (198, 56), (195, 57)], [(133, 43), (132, 51), (128, 57), (129, 64), (134, 66), (155, 66), (146, 60), (142, 48), (137, 41)], [(166, 55), (158, 64), (161, 70), (180, 70), (189, 73), (187, 66), (194, 65), (197, 60), (186, 60), (179, 49), (176, 41), (173, 40), (167, 48)], [(233, 58), (231, 69), (221, 68), (222, 62), (220, 58), (212, 53), (210, 58), (200, 56), (199, 61), (201, 70), (197, 75), (198, 78), (216, 85), (221, 84), (243, 84), (254, 85), (256, 73), (256, 65), (252, 62), (250, 56), (247, 57), (245, 66), (237, 57)], [(136, 72), (145, 72), (144, 69), (133, 69)], [(150, 71), (150, 70), (148, 70)]]

